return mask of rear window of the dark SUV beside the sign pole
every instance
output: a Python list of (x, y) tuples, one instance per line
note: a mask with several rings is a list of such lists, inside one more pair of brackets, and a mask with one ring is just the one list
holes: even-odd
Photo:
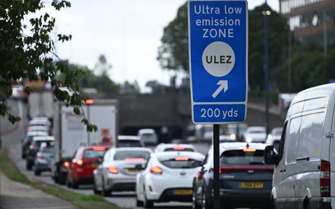
[(246, 165), (246, 164), (264, 164), (263, 150), (229, 150), (222, 153), (220, 164)]

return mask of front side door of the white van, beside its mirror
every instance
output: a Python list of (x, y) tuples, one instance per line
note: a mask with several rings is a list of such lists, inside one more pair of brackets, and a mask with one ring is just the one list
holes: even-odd
[(273, 191), (276, 208), (294, 208), (294, 181), (301, 116), (286, 123), (280, 144), (280, 161), (273, 173)]

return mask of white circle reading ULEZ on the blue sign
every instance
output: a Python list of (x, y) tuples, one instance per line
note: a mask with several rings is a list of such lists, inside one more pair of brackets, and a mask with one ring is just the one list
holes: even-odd
[(235, 65), (234, 50), (225, 42), (212, 42), (202, 54), (202, 64), (215, 77), (227, 75)]

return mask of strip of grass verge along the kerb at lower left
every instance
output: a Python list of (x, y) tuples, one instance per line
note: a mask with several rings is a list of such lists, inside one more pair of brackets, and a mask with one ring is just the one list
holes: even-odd
[(0, 169), (6, 176), (8, 176), (8, 178), (20, 183), (31, 185), (36, 189), (40, 189), (43, 192), (58, 196), (59, 198), (67, 201), (71, 201), (71, 203), (73, 203), (73, 205), (78, 209), (124, 209), (113, 203), (109, 203), (99, 195), (78, 194), (59, 187), (52, 187), (52, 185), (41, 183), (39, 181), (34, 182), (29, 180), (27, 176), (24, 176), (24, 174), (22, 174), (16, 165), (10, 160), (7, 150), (3, 148), (0, 148)]

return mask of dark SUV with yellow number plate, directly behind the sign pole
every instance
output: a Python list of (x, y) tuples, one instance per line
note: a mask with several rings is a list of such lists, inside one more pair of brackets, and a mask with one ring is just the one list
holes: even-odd
[[(220, 205), (270, 208), (274, 165), (264, 164), (266, 144), (220, 144)], [(193, 179), (192, 208), (213, 209), (213, 148)]]

